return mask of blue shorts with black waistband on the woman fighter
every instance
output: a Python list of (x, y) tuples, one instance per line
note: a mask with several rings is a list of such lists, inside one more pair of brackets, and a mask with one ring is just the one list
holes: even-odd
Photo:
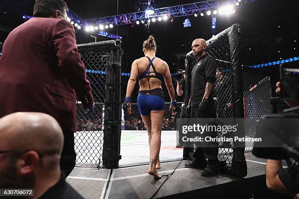
[(163, 90), (156, 88), (148, 91), (139, 91), (137, 105), (142, 116), (150, 116), (150, 111), (164, 111)]

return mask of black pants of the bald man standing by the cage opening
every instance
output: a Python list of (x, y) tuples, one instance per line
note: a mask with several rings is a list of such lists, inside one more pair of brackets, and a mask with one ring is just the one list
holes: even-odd
[[(191, 118), (216, 118), (216, 108), (214, 100), (209, 101), (207, 110), (204, 115), (199, 115), (198, 106), (192, 107)], [(217, 132), (213, 132), (211, 137), (216, 137)], [(195, 159), (208, 159), (208, 163), (218, 163), (218, 142), (209, 142), (208, 145), (198, 146), (193, 157)]]

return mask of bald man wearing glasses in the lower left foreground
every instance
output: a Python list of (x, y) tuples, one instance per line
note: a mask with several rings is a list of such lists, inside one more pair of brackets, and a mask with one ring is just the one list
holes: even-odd
[(0, 119), (0, 189), (34, 189), (34, 198), (83, 199), (59, 162), (64, 135), (44, 113), (19, 112)]

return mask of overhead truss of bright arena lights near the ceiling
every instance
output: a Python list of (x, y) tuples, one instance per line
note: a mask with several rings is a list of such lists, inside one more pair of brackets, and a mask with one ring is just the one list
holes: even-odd
[[(100, 32), (104, 29), (113, 28), (113, 26), (126, 24), (144, 24), (149, 27), (150, 22), (166, 21), (169, 18), (185, 17), (185, 16), (212, 16), (212, 29), (216, 27), (216, 15), (230, 15), (235, 13), (235, 7), (242, 4), (251, 3), (256, 0), (205, 0), (195, 3), (176, 5), (164, 8), (154, 9), (149, 6), (144, 11), (108, 16), (102, 18), (94, 18), (83, 20), (72, 10), (68, 10), (68, 20), (76, 29), (85, 29), (87, 32)], [(15, 2), (14, 0), (10, 3)], [(31, 18), (30, 16), (21, 15), (24, 20)], [(191, 24), (190, 24), (191, 25)], [(190, 27), (190, 26), (187, 26)], [(118, 36), (119, 38), (121, 36)]]

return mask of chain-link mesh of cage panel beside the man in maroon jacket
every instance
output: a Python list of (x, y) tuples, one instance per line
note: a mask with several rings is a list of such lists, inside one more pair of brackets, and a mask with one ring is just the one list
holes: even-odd
[[(110, 166), (105, 163), (105, 157), (107, 159), (114, 159), (115, 157), (110, 157), (112, 154), (108, 153), (107, 147), (105, 147), (105, 139), (106, 142), (110, 140), (108, 138), (110, 128), (107, 122), (109, 116), (112, 117), (105, 107), (110, 106), (111, 101), (108, 100), (108, 97), (113, 95), (107, 87), (111, 84), (108, 80), (111, 79), (110, 76), (120, 76), (120, 69), (118, 72), (112, 71), (112, 73), (109, 73), (108, 71), (115, 62), (119, 62), (120, 65), (120, 41), (111, 40), (80, 44), (78, 50), (86, 67), (87, 79), (91, 84), (95, 109), (91, 115), (86, 116), (86, 109), (80, 101), (77, 101), (76, 166), (108, 168)], [(118, 105), (120, 106), (120, 101)], [(118, 118), (120, 118), (120, 114)], [(120, 130), (115, 133), (120, 134)]]

